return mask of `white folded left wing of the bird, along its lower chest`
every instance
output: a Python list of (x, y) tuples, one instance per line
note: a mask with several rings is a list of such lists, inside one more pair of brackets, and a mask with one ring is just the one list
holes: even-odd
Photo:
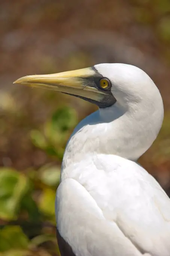
[(104, 218), (89, 192), (71, 178), (57, 189), (56, 214), (60, 236), (77, 256), (143, 255), (115, 222)]

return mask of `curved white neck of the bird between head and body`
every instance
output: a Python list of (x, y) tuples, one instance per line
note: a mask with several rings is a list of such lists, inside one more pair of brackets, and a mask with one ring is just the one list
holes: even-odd
[(113, 154), (136, 161), (156, 139), (161, 114), (158, 108), (148, 108), (147, 104), (123, 109), (116, 103), (96, 111), (75, 128), (62, 167), (80, 162), (89, 154)]

